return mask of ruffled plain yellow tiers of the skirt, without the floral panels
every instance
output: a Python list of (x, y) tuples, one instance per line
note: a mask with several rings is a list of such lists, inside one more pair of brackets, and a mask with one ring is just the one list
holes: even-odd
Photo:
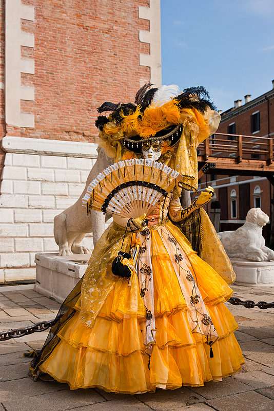
[[(179, 230), (171, 223), (166, 228), (183, 248), (186, 240)], [(150, 349), (144, 338), (147, 309), (138, 276), (116, 277), (92, 328), (80, 319), (82, 303), (75, 305), (75, 314), (58, 332), (60, 342), (40, 365), (41, 371), (71, 389), (100, 387), (126, 394), (201, 386), (239, 371), (244, 360), (233, 334), (238, 325), (223, 304), (232, 294), (230, 287), (196, 253), (189, 253), (187, 245), (183, 257), (219, 337), (210, 358), (207, 336), (189, 322), (182, 285), (159, 230), (151, 232), (151, 244), (155, 332)]]

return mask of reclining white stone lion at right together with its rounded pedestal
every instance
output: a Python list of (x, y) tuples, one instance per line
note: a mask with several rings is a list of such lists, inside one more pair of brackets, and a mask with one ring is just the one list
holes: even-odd
[(263, 226), (269, 221), (260, 209), (250, 209), (236, 231), (218, 233), (237, 279), (244, 286), (274, 286), (274, 251), (265, 247)]

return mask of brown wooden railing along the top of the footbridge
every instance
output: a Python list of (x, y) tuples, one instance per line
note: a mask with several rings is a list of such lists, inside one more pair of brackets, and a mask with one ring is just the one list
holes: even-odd
[(201, 143), (197, 150), (198, 156), (201, 156), (204, 161), (209, 157), (235, 158), (237, 163), (243, 159), (265, 160), (267, 165), (272, 164), (273, 161), (271, 137), (215, 133)]

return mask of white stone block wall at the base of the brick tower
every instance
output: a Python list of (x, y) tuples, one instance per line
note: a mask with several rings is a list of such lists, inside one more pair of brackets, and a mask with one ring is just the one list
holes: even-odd
[[(27, 282), (35, 279), (35, 254), (58, 249), (53, 218), (81, 195), (96, 146), (57, 141), (54, 153), (54, 140), (20, 137), (5, 137), (2, 146), (7, 153), (0, 187), (0, 284)], [(30, 154), (36, 146), (40, 154)], [(90, 237), (83, 240), (88, 248)]]

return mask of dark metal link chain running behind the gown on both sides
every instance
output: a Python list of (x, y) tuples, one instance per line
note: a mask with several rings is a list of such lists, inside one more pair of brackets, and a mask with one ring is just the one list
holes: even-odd
[[(246, 308), (258, 307), (258, 308), (261, 308), (262, 310), (266, 310), (267, 308), (274, 308), (274, 302), (266, 303), (265, 301), (259, 301), (259, 303), (255, 303), (252, 300), (242, 301), (240, 300), (240, 298), (237, 298), (237, 297), (231, 297), (229, 298), (227, 302), (232, 305), (243, 305)], [(33, 332), (46, 331), (47, 329), (51, 328), (54, 324), (56, 324), (60, 318), (61, 318), (61, 315), (56, 317), (53, 320), (41, 321), (40, 323), (30, 325), (29, 327), (15, 328), (14, 330), (10, 330), (10, 331), (2, 331), (0, 332), (0, 341), (7, 341), (7, 340), (10, 340), (11, 338), (24, 337), (24, 335), (29, 335), (29, 334), (32, 334)]]

